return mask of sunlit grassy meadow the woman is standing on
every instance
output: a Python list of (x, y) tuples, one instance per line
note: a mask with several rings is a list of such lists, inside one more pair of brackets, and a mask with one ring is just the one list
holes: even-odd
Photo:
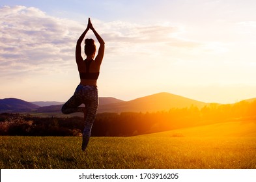
[[(229, 130), (227, 130), (229, 128)], [(256, 123), (132, 137), (0, 136), (1, 168), (256, 168)]]

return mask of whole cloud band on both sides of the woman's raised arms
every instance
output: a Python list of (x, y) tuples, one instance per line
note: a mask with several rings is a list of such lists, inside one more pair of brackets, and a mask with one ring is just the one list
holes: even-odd
[[(49, 16), (26, 6), (0, 7), (0, 75), (27, 76), (74, 68), (76, 40), (85, 25)], [(92, 23), (106, 42), (107, 55), (167, 53), (170, 47), (195, 49), (202, 44), (177, 36), (175, 25), (139, 25), (123, 21)], [(89, 32), (88, 36), (92, 36)]]

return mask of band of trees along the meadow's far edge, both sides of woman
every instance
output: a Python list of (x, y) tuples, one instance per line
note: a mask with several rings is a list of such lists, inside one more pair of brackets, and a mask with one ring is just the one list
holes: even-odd
[[(134, 136), (184, 127), (195, 127), (234, 120), (256, 121), (256, 101), (232, 105), (211, 103), (199, 109), (191, 106), (159, 112), (97, 114), (92, 136)], [(83, 118), (36, 117), (29, 114), (0, 114), (0, 135), (81, 136)]]

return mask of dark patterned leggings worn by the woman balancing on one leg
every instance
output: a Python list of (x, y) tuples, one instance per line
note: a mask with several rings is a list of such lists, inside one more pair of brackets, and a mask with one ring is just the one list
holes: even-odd
[[(85, 108), (79, 107), (85, 104)], [(85, 112), (86, 110), (86, 112)], [(91, 136), (92, 124), (96, 118), (98, 110), (98, 88), (92, 85), (78, 85), (74, 95), (63, 105), (63, 114), (74, 112), (85, 112), (85, 127), (83, 129), (82, 149), (87, 148)]]

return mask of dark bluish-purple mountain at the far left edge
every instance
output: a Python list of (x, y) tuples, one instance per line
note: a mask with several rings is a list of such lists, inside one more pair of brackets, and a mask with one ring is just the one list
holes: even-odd
[(0, 112), (32, 112), (39, 106), (16, 98), (0, 99)]

